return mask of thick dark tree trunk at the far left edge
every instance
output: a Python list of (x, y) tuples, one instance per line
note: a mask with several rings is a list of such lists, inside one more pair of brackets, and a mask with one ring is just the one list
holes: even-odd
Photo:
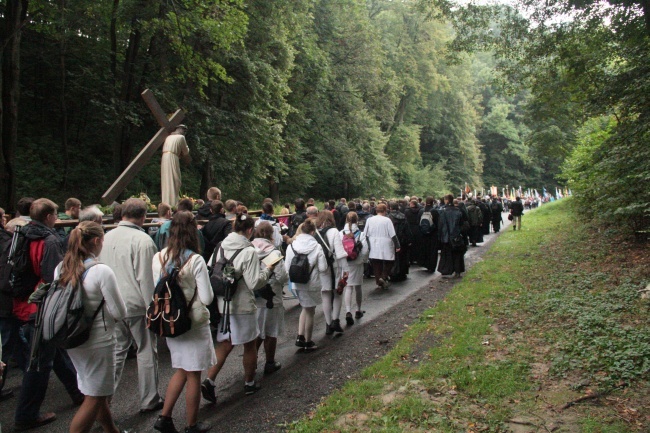
[(28, 0), (7, 0), (2, 35), (2, 134), (0, 142), (0, 205), (13, 211), (16, 205), (14, 160), (18, 145), (20, 96), (20, 38)]

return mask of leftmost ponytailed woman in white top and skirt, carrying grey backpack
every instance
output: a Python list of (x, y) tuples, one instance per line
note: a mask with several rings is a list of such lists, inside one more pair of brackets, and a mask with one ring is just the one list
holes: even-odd
[(117, 279), (108, 266), (97, 261), (104, 245), (104, 230), (95, 222), (84, 221), (70, 232), (68, 252), (54, 272), (62, 285), (82, 287), (84, 310), (95, 321), (90, 337), (81, 346), (68, 349), (77, 369), (79, 391), (84, 401), (70, 423), (70, 433), (89, 432), (95, 421), (104, 432), (118, 433), (108, 406), (115, 389), (115, 322), (126, 315), (126, 306), (117, 289)]

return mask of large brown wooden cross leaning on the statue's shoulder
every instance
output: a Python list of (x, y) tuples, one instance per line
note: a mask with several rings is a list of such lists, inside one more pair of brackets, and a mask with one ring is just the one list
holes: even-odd
[(153, 154), (156, 153), (156, 150), (162, 146), (162, 144), (165, 142), (165, 139), (169, 136), (169, 134), (174, 132), (176, 127), (180, 125), (180, 123), (183, 121), (183, 118), (185, 117), (183, 110), (178, 109), (168, 119), (167, 114), (165, 114), (163, 109), (158, 104), (158, 101), (156, 101), (155, 96), (153, 96), (153, 92), (149, 89), (142, 92), (142, 99), (144, 99), (144, 102), (146, 102), (147, 106), (149, 106), (149, 109), (160, 125), (160, 129), (156, 135), (154, 135), (153, 138), (149, 140), (149, 143), (147, 143), (147, 145), (142, 148), (138, 156), (136, 156), (133, 161), (131, 161), (131, 164), (129, 164), (129, 166), (122, 172), (120, 177), (118, 177), (117, 180), (113, 182), (113, 185), (111, 185), (111, 187), (106, 190), (102, 196), (102, 202), (104, 204), (108, 205), (115, 201), (117, 196), (120, 195), (122, 191), (124, 191), (126, 186), (133, 180), (135, 175), (138, 174), (140, 170), (142, 170), (147, 162), (149, 162)]

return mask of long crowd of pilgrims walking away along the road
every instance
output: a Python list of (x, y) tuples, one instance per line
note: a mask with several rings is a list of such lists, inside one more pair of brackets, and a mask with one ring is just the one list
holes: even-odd
[[(161, 410), (154, 429), (177, 431), (172, 410), (185, 389), (185, 431), (207, 431), (210, 426), (197, 419), (201, 396), (216, 403), (215, 379), (234, 346), (244, 349), (247, 395), (259, 390), (255, 377), (260, 349), (266, 359), (264, 374), (281, 368), (275, 351), (284, 331), (283, 296), (297, 298), (301, 313), (295, 344), (311, 352), (317, 349), (313, 329), (318, 306), (323, 309), (326, 334), (343, 333), (343, 307), (348, 326), (364, 316), (364, 278), (374, 277), (378, 290), (388, 290), (392, 283), (407, 278), (413, 264), (431, 273), (437, 270), (443, 277), (460, 277), (467, 248), (483, 242), (491, 228), (498, 232), (502, 214), (510, 205), (499, 197), (456, 199), (448, 195), (440, 200), (341, 199), (318, 209), (313, 199), (297, 199), (293, 209), (287, 204), (274, 215), (273, 202), (266, 199), (256, 218), (241, 202), (222, 202), (218, 188), (210, 188), (207, 199), (196, 213), (190, 200), (181, 200), (173, 214), (171, 206), (161, 203), (154, 220), (157, 224), (147, 229), (143, 228), (146, 204), (136, 198), (115, 207), (117, 226), (106, 232), (101, 211), (82, 209), (77, 199), (69, 199), (65, 212), (59, 214), (58, 206), (48, 199), (23, 198), (16, 218), (5, 224), (2, 215), (2, 362), (6, 364), (11, 357), (23, 371), (15, 430), (56, 419), (54, 413), (40, 410), (54, 370), (79, 406), (70, 432), (88, 432), (95, 422), (105, 432), (119, 432), (110, 399), (130, 350), (136, 348), (140, 412)], [(57, 221), (65, 219), (78, 219), (79, 224), (56, 228)], [(33, 264), (32, 275), (23, 278), (29, 281), (27, 287), (18, 292), (8, 283), (7, 272), (1, 272), (7, 268), (16, 230), (29, 239)], [(307, 282), (289, 281), (296, 256), (308, 258)], [(273, 260), (265, 260), (268, 257)], [(210, 282), (211, 266), (222, 258), (232, 262), (237, 277), (229, 327), (211, 323), (208, 308), (217, 306), (223, 311), (223, 299), (214, 295)], [(158, 392), (157, 335), (147, 329), (145, 312), (156, 282), (172, 268), (179, 270), (178, 282), (190, 305), (192, 326), (185, 334), (167, 339), (175, 372), (163, 397)], [(83, 288), (84, 310), (94, 317), (90, 336), (74, 349), (41, 343), (30, 353), (32, 339), (38, 338), (34, 336), (37, 306), (29, 303), (30, 292), (38, 283), (55, 280)], [(203, 372), (207, 377), (201, 381)], [(6, 374), (5, 368), (2, 377)], [(11, 394), (2, 390), (1, 397)]]

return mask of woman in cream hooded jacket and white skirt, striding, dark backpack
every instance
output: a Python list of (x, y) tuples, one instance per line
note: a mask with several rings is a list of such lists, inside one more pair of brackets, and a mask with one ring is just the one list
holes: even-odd
[[(254, 394), (259, 390), (255, 384), (257, 369), (257, 337), (260, 330), (257, 325), (257, 306), (255, 293), (266, 285), (273, 273), (274, 266), (260, 269), (260, 259), (255, 247), (249, 239), (253, 235), (255, 220), (245, 214), (235, 214), (233, 232), (221, 243), (216, 250), (216, 260), (225, 257), (232, 261), (235, 268), (237, 290), (230, 304), (230, 329), (219, 326), (217, 333), (217, 364), (208, 370), (208, 377), (201, 384), (201, 393), (206, 400), (216, 403), (215, 379), (226, 362), (234, 346), (244, 346), (244, 392)], [(213, 259), (210, 259), (213, 260)], [(219, 311), (223, 309), (223, 298), (219, 297)], [(222, 319), (223, 320), (223, 319)]]

